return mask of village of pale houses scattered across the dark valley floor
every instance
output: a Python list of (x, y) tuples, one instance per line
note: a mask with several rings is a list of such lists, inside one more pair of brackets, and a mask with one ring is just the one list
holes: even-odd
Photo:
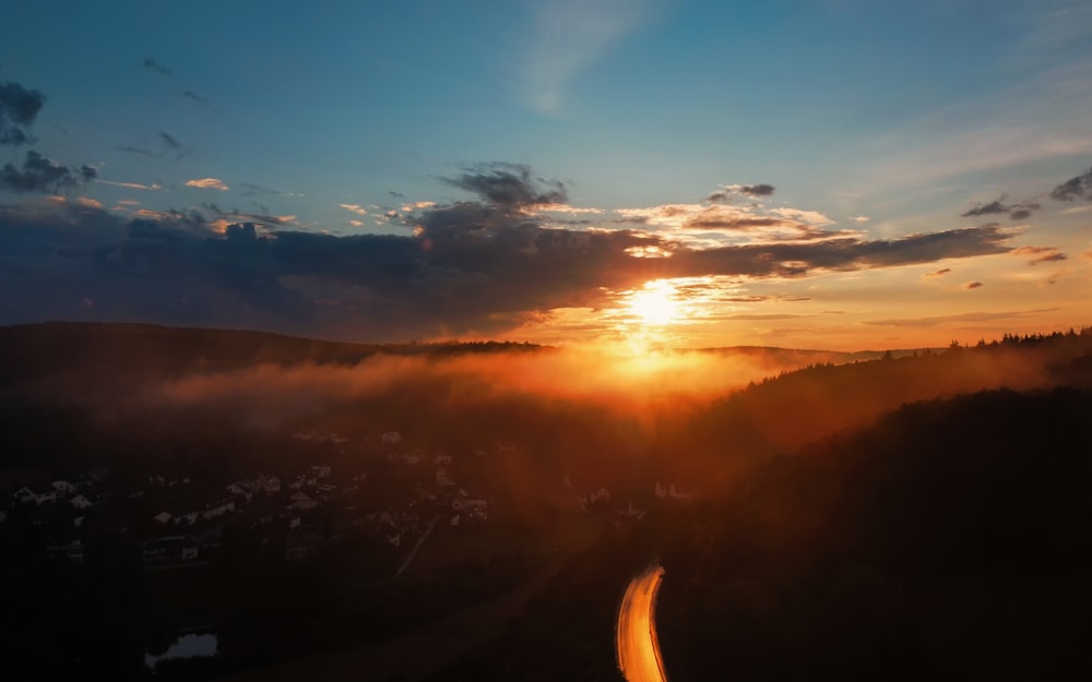
[[(155, 469), (117, 481), (110, 467), (99, 467), (2, 491), (0, 537), (4, 527), (10, 534), (22, 525), (46, 558), (79, 563), (87, 551), (88, 528), (95, 527), (133, 538), (144, 566), (162, 571), (214, 561), (228, 527), (241, 528), (266, 555), (287, 561), (352, 534), (387, 548), (399, 575), (437, 526), (473, 528), (506, 513), (503, 482), (488, 472), (490, 459), (515, 454), (514, 444), (456, 456), (408, 446), (399, 431), (370, 442), (314, 431), (285, 435), (316, 463), (226, 482)], [(691, 496), (658, 481), (640, 504), (612, 500), (606, 484), (579, 490), (568, 475), (561, 486), (590, 517), (607, 516), (616, 524), (643, 518), (648, 500)]]

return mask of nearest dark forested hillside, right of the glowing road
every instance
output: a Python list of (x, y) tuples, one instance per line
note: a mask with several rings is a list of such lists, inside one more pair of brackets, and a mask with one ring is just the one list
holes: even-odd
[[(1031, 680), (1090, 662), (1092, 393), (904, 406), (756, 471), (665, 558), (673, 679)], [(791, 656), (786, 656), (791, 651)]]

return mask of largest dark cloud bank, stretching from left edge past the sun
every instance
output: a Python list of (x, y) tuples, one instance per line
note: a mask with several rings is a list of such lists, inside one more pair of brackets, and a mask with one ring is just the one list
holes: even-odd
[[(615, 304), (613, 291), (662, 277), (743, 283), (1011, 250), (1012, 235), (997, 225), (890, 240), (854, 234), (699, 249), (641, 230), (558, 228), (522, 212), (560, 191), (522, 167), (467, 172), (453, 183), (475, 188), (482, 201), (393, 220), (413, 228), (405, 235), (307, 232), (276, 216), (215, 204), (128, 222), (98, 210), (2, 210), (0, 254), (12, 255), (0, 266), (0, 323), (94, 314), (357, 339), (435, 338), (509, 331), (556, 308), (602, 309)], [(223, 220), (232, 224), (219, 232), (213, 226)], [(638, 252), (670, 258), (631, 255)], [(3, 291), (29, 294), (3, 298)], [(95, 301), (93, 309), (80, 307), (83, 299)]]

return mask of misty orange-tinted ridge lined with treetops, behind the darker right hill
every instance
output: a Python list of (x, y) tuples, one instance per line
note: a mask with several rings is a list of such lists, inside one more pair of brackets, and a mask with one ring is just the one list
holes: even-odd
[(792, 452), (907, 403), (1058, 386), (1092, 388), (1092, 328), (784, 372), (698, 415), (687, 438), (721, 453)]

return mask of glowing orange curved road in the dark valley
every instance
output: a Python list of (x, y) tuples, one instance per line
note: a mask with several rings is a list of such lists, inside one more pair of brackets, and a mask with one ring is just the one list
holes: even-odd
[(667, 682), (656, 637), (656, 591), (663, 566), (649, 566), (634, 577), (618, 608), (618, 668), (628, 682)]

